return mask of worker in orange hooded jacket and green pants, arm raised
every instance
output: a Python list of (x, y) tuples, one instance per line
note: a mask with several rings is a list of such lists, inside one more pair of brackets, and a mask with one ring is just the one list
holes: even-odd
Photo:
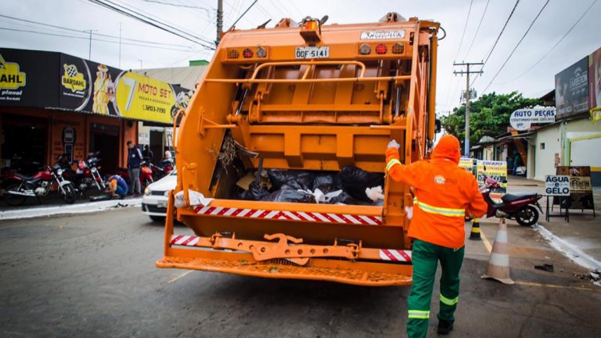
[(430, 301), (438, 262), (441, 262), (441, 295), (438, 333), (453, 330), (453, 313), (459, 302), (459, 271), (465, 251), (465, 215), (481, 217), (486, 202), (478, 182), (459, 167), (459, 140), (441, 138), (428, 161), (403, 165), (397, 141), (386, 149), (386, 172), (415, 189), (409, 238), (413, 240), (413, 286), (409, 294), (407, 335), (426, 337)]

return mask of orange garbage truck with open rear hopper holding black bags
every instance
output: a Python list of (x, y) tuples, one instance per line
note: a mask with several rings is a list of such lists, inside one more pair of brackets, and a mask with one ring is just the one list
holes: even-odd
[[(396, 13), (374, 23), (325, 20), (282, 19), (222, 35), (174, 118), (177, 187), (157, 267), (364, 286), (412, 282), (406, 207), (413, 197), (409, 186), (384, 177), (384, 150), (397, 140), (409, 164), (432, 146), (439, 23)], [(284, 189), (269, 182), (273, 173), (344, 170), (382, 177), (380, 203), (244, 198), (252, 189), (268, 196)], [(365, 182), (345, 184), (341, 190)], [(288, 192), (317, 192), (306, 190)], [(194, 233), (174, 229), (175, 219)]]

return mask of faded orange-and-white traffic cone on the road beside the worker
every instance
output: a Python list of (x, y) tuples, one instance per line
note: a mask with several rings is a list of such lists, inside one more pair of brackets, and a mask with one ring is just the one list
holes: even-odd
[(490, 252), (489, 266), (486, 274), (481, 278), (492, 278), (504, 284), (513, 284), (509, 277), (509, 254), (507, 244), (507, 224), (505, 218), (499, 222), (499, 230), (496, 232), (495, 243)]

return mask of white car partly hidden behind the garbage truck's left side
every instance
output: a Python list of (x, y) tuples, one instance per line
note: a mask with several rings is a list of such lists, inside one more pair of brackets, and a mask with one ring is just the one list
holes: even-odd
[(165, 221), (168, 191), (175, 189), (176, 185), (177, 173), (175, 170), (148, 185), (144, 190), (144, 196), (142, 196), (142, 212), (150, 216), (153, 221)]

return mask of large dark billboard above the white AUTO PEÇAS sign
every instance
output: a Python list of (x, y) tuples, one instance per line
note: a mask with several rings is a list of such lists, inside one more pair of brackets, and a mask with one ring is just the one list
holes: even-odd
[(557, 117), (588, 111), (588, 57), (555, 75)]

